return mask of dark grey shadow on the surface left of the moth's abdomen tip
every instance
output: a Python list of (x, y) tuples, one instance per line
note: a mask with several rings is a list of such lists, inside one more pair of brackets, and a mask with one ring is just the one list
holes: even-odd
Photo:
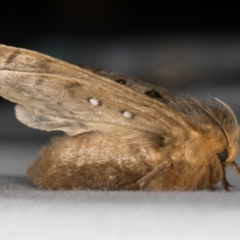
[(36, 189), (31, 180), (19, 175), (0, 175), (0, 190)]

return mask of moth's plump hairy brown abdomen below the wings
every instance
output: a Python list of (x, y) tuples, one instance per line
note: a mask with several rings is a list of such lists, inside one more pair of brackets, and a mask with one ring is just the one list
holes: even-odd
[(64, 136), (42, 149), (27, 174), (45, 189), (137, 189), (131, 185), (153, 169), (147, 155), (136, 143), (102, 133)]

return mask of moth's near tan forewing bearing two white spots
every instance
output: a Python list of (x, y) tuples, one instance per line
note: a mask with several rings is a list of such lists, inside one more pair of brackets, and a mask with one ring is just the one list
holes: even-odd
[[(21, 51), (18, 54), (21, 55)], [(31, 52), (28, 54), (31, 55)], [(54, 66), (57, 62), (54, 60)], [(62, 64), (59, 61), (59, 67)], [(21, 63), (19, 65), (22, 69)], [(33, 108), (34, 112), (37, 112), (36, 109), (44, 112), (45, 117), (51, 115), (63, 120), (75, 120), (85, 125), (85, 130), (97, 130), (94, 125), (107, 123), (153, 132), (162, 132), (164, 129), (168, 134), (174, 134), (173, 129), (168, 130), (170, 127), (184, 132), (182, 125), (187, 125), (179, 113), (165, 104), (143, 97), (109, 79), (86, 73), (86, 70), (77, 68), (76, 77), (72, 78), (37, 73), (37, 66), (35, 72), (33, 69), (31, 71), (18, 71), (18, 62), (15, 62), (14, 70), (2, 69), (0, 94), (10, 101)], [(93, 97), (101, 104), (92, 105), (89, 99)], [(126, 117), (126, 112), (131, 117)]]

